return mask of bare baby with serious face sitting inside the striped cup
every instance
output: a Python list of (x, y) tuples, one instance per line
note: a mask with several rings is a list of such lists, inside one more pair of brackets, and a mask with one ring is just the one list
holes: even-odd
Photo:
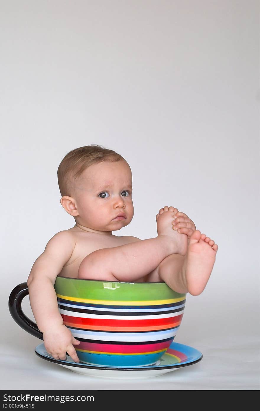
[[(56, 360), (66, 352), (79, 362), (80, 344), (64, 326), (54, 283), (57, 276), (122, 282), (164, 281), (196, 296), (205, 288), (218, 246), (177, 208), (156, 215), (156, 238), (112, 234), (133, 218), (132, 174), (113, 150), (88, 145), (69, 152), (58, 168), (62, 207), (76, 224), (49, 240), (28, 277), (30, 305), (43, 332), (46, 351)], [(143, 204), (148, 207), (149, 203)]]

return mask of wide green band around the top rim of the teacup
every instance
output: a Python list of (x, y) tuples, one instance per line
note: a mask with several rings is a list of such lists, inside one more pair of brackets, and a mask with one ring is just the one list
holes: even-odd
[(107, 301), (167, 300), (186, 296), (173, 291), (164, 282), (124, 283), (56, 277), (54, 288), (63, 296)]

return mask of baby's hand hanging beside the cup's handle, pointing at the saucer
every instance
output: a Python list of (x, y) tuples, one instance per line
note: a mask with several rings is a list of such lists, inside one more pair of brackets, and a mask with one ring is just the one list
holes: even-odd
[(66, 360), (66, 351), (71, 358), (79, 363), (76, 350), (73, 345), (80, 344), (80, 341), (75, 339), (69, 328), (64, 324), (59, 324), (55, 328), (49, 328), (43, 332), (44, 346), (48, 354), (51, 354), (55, 360)]

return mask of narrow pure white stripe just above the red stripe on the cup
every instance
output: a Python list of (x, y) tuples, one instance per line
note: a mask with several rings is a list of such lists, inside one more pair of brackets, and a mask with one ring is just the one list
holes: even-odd
[(184, 312), (182, 311), (173, 312), (170, 314), (158, 314), (158, 315), (95, 315), (95, 314), (87, 314), (84, 312), (74, 312), (74, 311), (67, 311), (64, 309), (59, 308), (60, 314), (68, 315), (71, 317), (80, 317), (80, 318), (93, 318), (93, 319), (106, 319), (106, 320), (154, 320), (160, 318), (170, 318), (176, 317)]

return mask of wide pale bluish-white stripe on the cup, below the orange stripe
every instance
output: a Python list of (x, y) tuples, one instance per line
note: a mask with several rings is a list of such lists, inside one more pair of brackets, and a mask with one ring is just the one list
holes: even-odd
[(157, 332), (94, 332), (94, 331), (83, 331), (83, 330), (74, 330), (69, 328), (71, 333), (75, 338), (85, 338), (85, 339), (96, 339), (98, 341), (129, 341), (129, 342), (138, 342), (138, 341), (156, 341), (166, 338), (172, 338), (176, 335), (179, 327)]

